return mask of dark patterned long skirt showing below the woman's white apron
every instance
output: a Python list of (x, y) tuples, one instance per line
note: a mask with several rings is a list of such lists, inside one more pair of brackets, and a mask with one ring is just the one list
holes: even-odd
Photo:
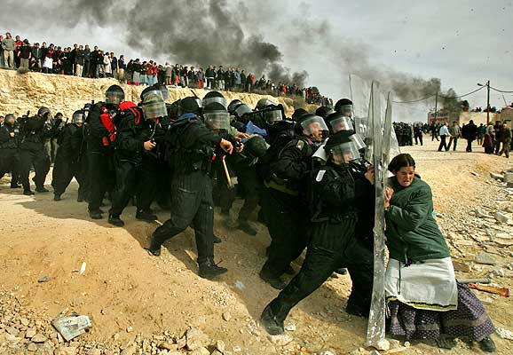
[(406, 339), (465, 338), (481, 341), (495, 328), (481, 301), (465, 285), (458, 285), (458, 309), (448, 312), (417, 310), (391, 301), (389, 333)]

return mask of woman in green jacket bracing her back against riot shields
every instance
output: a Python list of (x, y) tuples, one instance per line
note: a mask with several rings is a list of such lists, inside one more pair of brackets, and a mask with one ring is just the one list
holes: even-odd
[(430, 185), (415, 175), (409, 154), (389, 165), (394, 175), (385, 191), (387, 246), (390, 260), (385, 291), (390, 310), (389, 333), (407, 339), (435, 339), (452, 348), (455, 338), (477, 341), (496, 351), (492, 321), (483, 304), (459, 284), (446, 240), (432, 217)]

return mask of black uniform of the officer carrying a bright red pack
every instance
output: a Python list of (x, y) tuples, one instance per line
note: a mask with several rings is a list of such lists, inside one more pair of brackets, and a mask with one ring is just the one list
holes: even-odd
[[(100, 121), (102, 107), (107, 107), (107, 104), (99, 102), (92, 107), (88, 116), (87, 161), (90, 186), (89, 211), (91, 213), (99, 213), (105, 193), (111, 192), (114, 188), (114, 165), (112, 162), (114, 140), (111, 132)], [(114, 113), (114, 110), (111, 108), (110, 112)]]

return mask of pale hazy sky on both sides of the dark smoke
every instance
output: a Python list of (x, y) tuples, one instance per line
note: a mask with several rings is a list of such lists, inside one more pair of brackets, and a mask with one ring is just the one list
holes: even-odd
[[(0, 31), (20, 34), (31, 43), (90, 43), (129, 58), (152, 58), (149, 46), (127, 44), (119, 24), (103, 20), (99, 27), (85, 16), (75, 17), (73, 7), (61, 13), (61, 6), (52, 8), (58, 1), (3, 0), (6, 4), (0, 12)], [(71, 0), (67, 4), (77, 2), (102, 4), (92, 0)], [(37, 10), (41, 4), (50, 10)], [(247, 36), (261, 34), (265, 41), (276, 44), (286, 67), (305, 69), (309, 73), (307, 83), (334, 99), (349, 95), (348, 74), (360, 63), (382, 72), (403, 72), (426, 80), (437, 77), (443, 90), (454, 88), (460, 95), (486, 80), (495, 88), (513, 91), (510, 0), (248, 0), (228, 4), (233, 9), (244, 6), (250, 14), (241, 17)], [(115, 9), (108, 13), (116, 16)], [(130, 26), (130, 20), (123, 22)], [(513, 101), (511, 93), (503, 95), (508, 103)], [(485, 106), (485, 90), (466, 99), (470, 106)], [(492, 91), (491, 104), (504, 106), (502, 94)], [(426, 106), (409, 108), (421, 114)]]

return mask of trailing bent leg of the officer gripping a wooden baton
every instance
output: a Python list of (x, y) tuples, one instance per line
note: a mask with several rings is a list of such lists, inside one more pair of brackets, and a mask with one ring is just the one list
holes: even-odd
[(158, 227), (152, 235), (152, 241), (148, 251), (154, 256), (160, 256), (162, 244), (182, 233), (191, 225), (201, 203), (201, 190), (205, 187), (202, 171), (194, 171), (191, 174), (175, 174), (171, 182), (171, 217), (163, 225)]

